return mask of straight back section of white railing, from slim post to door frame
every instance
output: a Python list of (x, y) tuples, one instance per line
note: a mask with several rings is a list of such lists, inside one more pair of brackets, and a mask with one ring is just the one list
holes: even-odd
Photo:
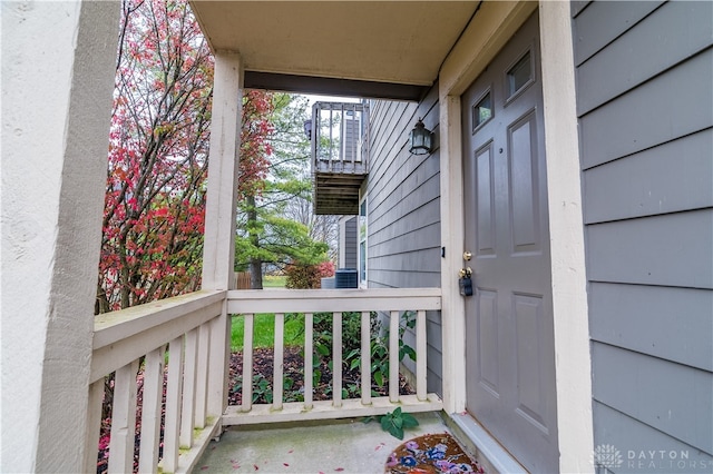
[[(427, 393), (426, 312), (439, 310), (439, 288), (418, 289), (322, 289), (322, 290), (232, 290), (227, 295), (227, 312), (245, 318), (243, 377), (253, 381), (253, 318), (255, 314), (275, 314), (275, 348), (273, 363), (273, 403), (252, 403), (252, 384), (242, 384), (242, 404), (229, 406), (223, 416), (224, 425), (244, 425), (302, 419), (326, 419), (381, 415), (401, 406), (406, 412), (442, 409), (436, 394)], [(399, 320), (400, 314), (411, 310), (416, 322), (416, 395), (399, 395)], [(361, 313), (361, 397), (342, 399), (342, 314)], [(371, 312), (390, 313), (389, 330), (389, 395), (372, 396), (371, 374)], [(284, 315), (304, 314), (304, 401), (283, 403)], [(332, 399), (313, 401), (313, 315), (332, 314)]]

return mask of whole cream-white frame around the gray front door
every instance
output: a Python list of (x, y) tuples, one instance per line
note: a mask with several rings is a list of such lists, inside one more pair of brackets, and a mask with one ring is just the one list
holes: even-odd
[(465, 250), (460, 95), (536, 9), (545, 103), (559, 468), (593, 472), (592, 365), (569, 2), (484, 2), (441, 68), (443, 403), (448, 413), (466, 408), (465, 304), (457, 282)]

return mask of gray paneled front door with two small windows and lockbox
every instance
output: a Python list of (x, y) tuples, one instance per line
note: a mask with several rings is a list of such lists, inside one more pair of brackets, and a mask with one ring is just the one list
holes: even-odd
[(525, 467), (556, 472), (547, 177), (535, 13), (461, 97), (467, 408)]

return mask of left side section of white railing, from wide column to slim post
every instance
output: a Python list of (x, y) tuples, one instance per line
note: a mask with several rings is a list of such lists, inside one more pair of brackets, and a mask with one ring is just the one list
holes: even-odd
[[(225, 292), (197, 292), (97, 316), (89, 385), (89, 426), (85, 471), (97, 465), (105, 377), (115, 373), (110, 473), (134, 470), (137, 372), (144, 358), (139, 472), (159, 467), (162, 414), (165, 416), (163, 472), (187, 472), (221, 429), (224, 402), (224, 340), (212, 333), (227, 324)], [(216, 332), (219, 334), (219, 332)], [(164, 399), (164, 367), (166, 396)], [(216, 369), (217, 368), (217, 369)], [(218, 412), (216, 412), (216, 407)], [(180, 454), (180, 455), (179, 455)]]

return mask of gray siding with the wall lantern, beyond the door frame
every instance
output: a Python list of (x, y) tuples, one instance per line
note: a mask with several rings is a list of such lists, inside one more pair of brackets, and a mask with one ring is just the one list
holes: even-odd
[[(370, 288), (440, 286), (440, 164), (409, 152), (419, 118), (438, 136), (438, 87), (420, 102), (373, 101), (368, 197)], [(438, 139), (436, 140), (438, 141)], [(441, 393), (440, 313), (427, 315), (428, 389)], [(404, 336), (414, 346), (412, 334)], [(406, 365), (414, 369), (410, 359)]]

